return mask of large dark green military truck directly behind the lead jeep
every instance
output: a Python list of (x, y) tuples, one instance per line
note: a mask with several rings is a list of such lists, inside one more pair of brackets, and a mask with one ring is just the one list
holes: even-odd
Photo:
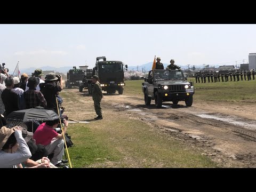
[[(103, 60), (103, 61), (100, 61)], [(125, 65), (127, 70), (127, 65)], [(99, 77), (102, 91), (108, 94), (123, 94), (124, 90), (124, 63), (122, 61), (107, 61), (106, 57), (97, 57), (92, 75)]]

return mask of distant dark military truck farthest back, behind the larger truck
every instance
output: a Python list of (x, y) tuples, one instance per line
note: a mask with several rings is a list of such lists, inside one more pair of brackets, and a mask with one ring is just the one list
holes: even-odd
[(76, 69), (76, 66), (73, 69), (70, 69), (67, 72), (67, 81), (65, 81), (65, 86), (68, 89), (71, 89), (72, 86), (78, 86), (85, 78), (85, 71), (82, 69)]

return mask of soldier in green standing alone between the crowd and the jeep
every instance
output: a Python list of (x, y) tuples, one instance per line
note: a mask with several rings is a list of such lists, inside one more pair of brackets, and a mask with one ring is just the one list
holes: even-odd
[(101, 91), (101, 86), (99, 83), (99, 77), (97, 75), (92, 76), (92, 82), (94, 83), (92, 88), (92, 100), (94, 102), (94, 109), (98, 117), (95, 117), (95, 120), (102, 119), (102, 111), (100, 107), (101, 99), (103, 98), (103, 94)]

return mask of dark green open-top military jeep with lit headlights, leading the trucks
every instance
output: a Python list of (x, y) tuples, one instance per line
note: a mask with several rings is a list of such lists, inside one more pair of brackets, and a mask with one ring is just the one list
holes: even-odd
[(172, 101), (173, 104), (185, 101), (190, 107), (195, 93), (193, 82), (188, 82), (181, 70), (170, 69), (150, 70), (148, 78), (142, 83), (142, 91), (145, 104), (149, 106), (151, 99), (154, 99), (158, 108), (165, 101)]

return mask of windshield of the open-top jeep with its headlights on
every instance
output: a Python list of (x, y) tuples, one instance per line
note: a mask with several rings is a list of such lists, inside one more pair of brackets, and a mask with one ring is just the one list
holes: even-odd
[(154, 75), (156, 81), (183, 79), (182, 71), (178, 70), (155, 71)]

